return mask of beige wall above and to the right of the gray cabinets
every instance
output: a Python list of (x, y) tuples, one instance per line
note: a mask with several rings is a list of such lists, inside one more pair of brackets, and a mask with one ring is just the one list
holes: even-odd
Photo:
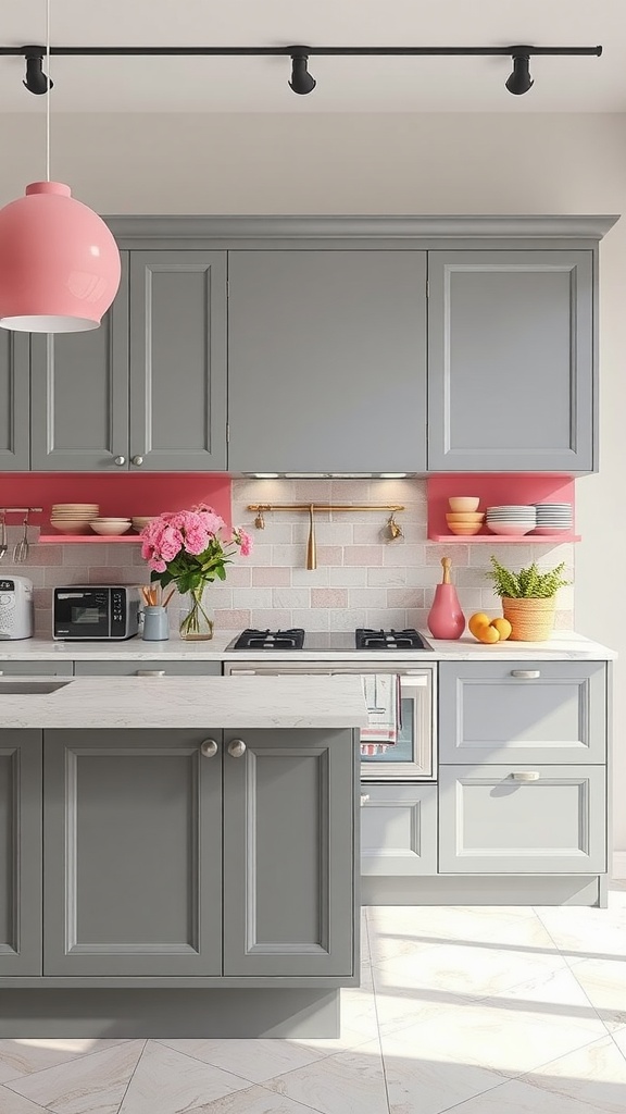
[[(99, 116), (52, 120), (53, 174), (102, 213), (615, 213), (620, 115)], [(0, 117), (0, 202), (42, 173), (42, 116)], [(601, 247), (600, 473), (578, 483), (578, 628), (626, 655), (626, 219)], [(505, 419), (503, 419), (505, 420)], [(624, 670), (622, 668), (622, 675)], [(617, 672), (620, 677), (620, 668)], [(626, 850), (626, 685), (616, 846)]]

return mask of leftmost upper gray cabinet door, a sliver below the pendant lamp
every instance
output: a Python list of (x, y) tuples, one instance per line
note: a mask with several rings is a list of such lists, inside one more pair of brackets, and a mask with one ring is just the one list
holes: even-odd
[(30, 467), (30, 346), (26, 333), (0, 329), (0, 470)]

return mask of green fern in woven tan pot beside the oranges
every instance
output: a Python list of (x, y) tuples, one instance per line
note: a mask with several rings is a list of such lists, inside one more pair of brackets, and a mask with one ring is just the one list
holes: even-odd
[(535, 561), (519, 573), (505, 568), (491, 556), (496, 595), (502, 599), (505, 618), (511, 624), (516, 642), (546, 642), (554, 629), (557, 592), (569, 580), (563, 579), (565, 561), (541, 573)]

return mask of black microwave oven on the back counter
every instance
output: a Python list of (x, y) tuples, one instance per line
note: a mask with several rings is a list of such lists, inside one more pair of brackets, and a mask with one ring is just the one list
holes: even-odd
[(139, 631), (139, 589), (120, 585), (55, 588), (52, 637), (119, 642)]

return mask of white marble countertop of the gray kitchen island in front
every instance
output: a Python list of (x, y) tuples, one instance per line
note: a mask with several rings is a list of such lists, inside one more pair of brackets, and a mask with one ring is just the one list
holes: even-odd
[(8, 727), (360, 727), (361, 678), (76, 677), (47, 695), (4, 695)]

